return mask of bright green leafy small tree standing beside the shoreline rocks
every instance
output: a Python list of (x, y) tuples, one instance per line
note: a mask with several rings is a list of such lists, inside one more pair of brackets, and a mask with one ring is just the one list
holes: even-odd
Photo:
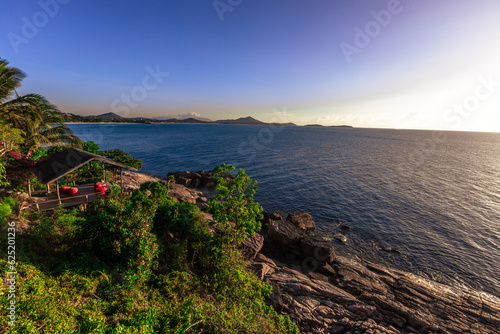
[(222, 164), (215, 168), (218, 194), (209, 201), (209, 210), (221, 227), (230, 232), (237, 243), (245, 239), (247, 233), (259, 231), (262, 206), (254, 201), (259, 189), (257, 181), (250, 179), (243, 169)]

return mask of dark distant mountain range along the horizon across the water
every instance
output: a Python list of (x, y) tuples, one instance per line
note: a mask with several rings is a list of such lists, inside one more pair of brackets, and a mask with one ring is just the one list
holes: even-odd
[[(212, 121), (208, 118), (203, 117), (187, 117), (187, 118), (169, 118), (165, 116), (146, 118), (146, 117), (134, 117), (127, 118), (122, 117), (113, 112), (108, 112), (101, 115), (91, 115), (91, 116), (81, 116), (72, 113), (62, 113), (64, 120), (66, 122), (75, 123), (100, 123), (100, 122), (110, 122), (110, 123), (196, 123), (196, 124), (241, 124), (241, 125), (284, 125), (284, 126), (297, 126), (294, 123), (265, 123), (255, 119), (251, 116), (241, 117), (238, 119), (223, 119), (219, 121)], [(323, 126), (320, 124), (309, 124), (306, 126)], [(345, 127), (352, 128), (350, 125), (333, 125), (330, 127)]]

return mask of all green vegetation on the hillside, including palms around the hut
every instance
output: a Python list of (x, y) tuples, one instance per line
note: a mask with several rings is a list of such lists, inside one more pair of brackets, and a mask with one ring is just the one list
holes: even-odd
[(66, 147), (143, 165), (82, 143), (44, 97), (18, 96), (24, 73), (7, 65), (0, 60), (0, 248), (15, 240), (15, 260), (0, 259), (0, 332), (298, 333), (266, 304), (271, 286), (239, 251), (259, 229), (262, 208), (255, 181), (233, 166), (218, 168), (219, 195), (210, 203), (227, 233), (214, 233), (196, 206), (169, 197), (169, 183), (148, 182), (132, 194), (114, 187), (86, 209), (23, 210), (12, 190), (26, 178), (36, 183), (33, 164)]

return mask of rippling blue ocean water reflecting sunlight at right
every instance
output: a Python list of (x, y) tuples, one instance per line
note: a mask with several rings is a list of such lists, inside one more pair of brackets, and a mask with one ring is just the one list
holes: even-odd
[[(340, 254), (500, 296), (500, 134), (208, 124), (71, 125), (145, 172), (230, 163), (266, 211), (306, 211)], [(351, 230), (339, 230), (345, 223)], [(391, 251), (392, 250), (392, 251)]]

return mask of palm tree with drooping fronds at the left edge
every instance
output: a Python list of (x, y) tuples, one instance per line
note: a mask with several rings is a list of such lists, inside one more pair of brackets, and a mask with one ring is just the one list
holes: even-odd
[(40, 145), (75, 145), (81, 140), (64, 123), (59, 109), (38, 94), (19, 96), (23, 71), (0, 59), (0, 118), (24, 131), (26, 156)]

